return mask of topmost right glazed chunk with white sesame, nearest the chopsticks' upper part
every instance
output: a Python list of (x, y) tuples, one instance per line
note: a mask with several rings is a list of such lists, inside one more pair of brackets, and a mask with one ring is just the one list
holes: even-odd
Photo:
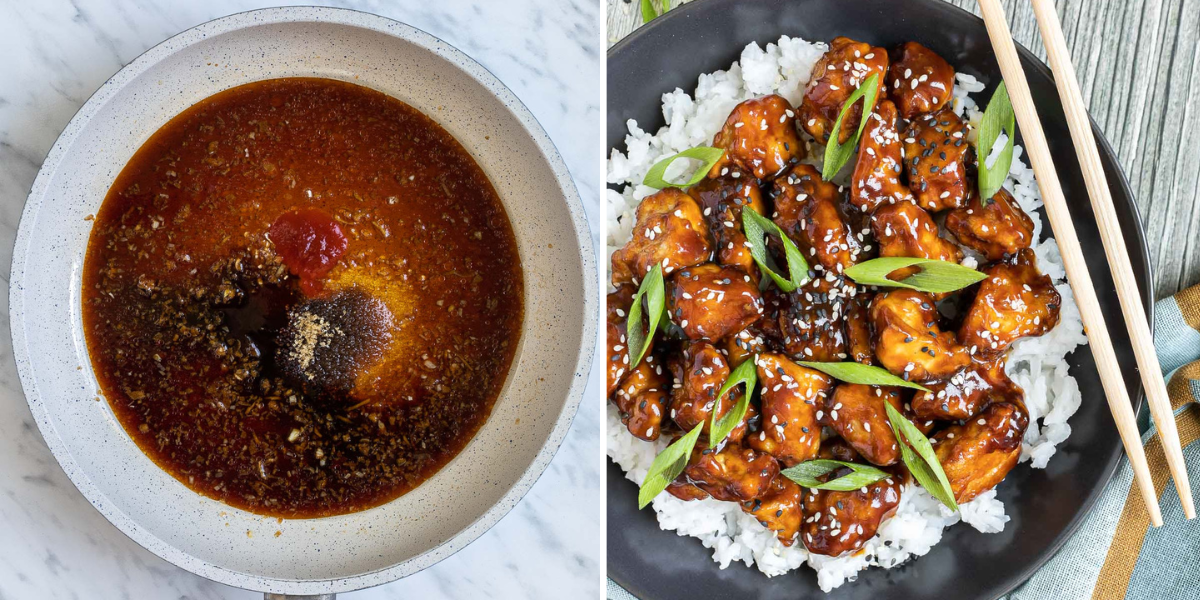
[(947, 106), (954, 91), (954, 67), (934, 50), (906, 42), (892, 54), (888, 83), (900, 115), (912, 120)]

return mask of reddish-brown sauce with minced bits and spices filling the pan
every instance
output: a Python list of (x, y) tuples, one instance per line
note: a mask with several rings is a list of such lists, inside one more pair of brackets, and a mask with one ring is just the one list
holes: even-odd
[(116, 178), (84, 263), (101, 391), (158, 466), (257, 514), (412, 490), (487, 419), (522, 322), (516, 240), (442, 127), (289, 78), (209, 97)]

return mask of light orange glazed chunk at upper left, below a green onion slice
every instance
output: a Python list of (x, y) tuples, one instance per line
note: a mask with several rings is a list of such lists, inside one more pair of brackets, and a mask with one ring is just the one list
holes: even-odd
[(634, 236), (612, 253), (612, 284), (637, 284), (654, 265), (662, 265), (667, 276), (707, 263), (712, 256), (713, 241), (700, 204), (668, 187), (637, 205)]

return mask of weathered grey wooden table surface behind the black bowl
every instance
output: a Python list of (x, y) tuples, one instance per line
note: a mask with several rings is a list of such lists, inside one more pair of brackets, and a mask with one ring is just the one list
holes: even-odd
[[(976, 14), (976, 0), (947, 0)], [(642, 24), (607, 0), (608, 44)], [(683, 0), (671, 0), (671, 5)], [(1045, 60), (1033, 8), (1003, 0), (1013, 36)], [(1129, 178), (1157, 298), (1200, 282), (1200, 0), (1056, 0), (1084, 98)]]

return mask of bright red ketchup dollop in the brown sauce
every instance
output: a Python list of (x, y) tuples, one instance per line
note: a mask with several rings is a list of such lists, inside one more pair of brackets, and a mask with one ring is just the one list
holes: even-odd
[(320, 209), (296, 209), (280, 215), (268, 230), (275, 251), (306, 296), (322, 293), (322, 278), (337, 264), (348, 241), (337, 221)]

